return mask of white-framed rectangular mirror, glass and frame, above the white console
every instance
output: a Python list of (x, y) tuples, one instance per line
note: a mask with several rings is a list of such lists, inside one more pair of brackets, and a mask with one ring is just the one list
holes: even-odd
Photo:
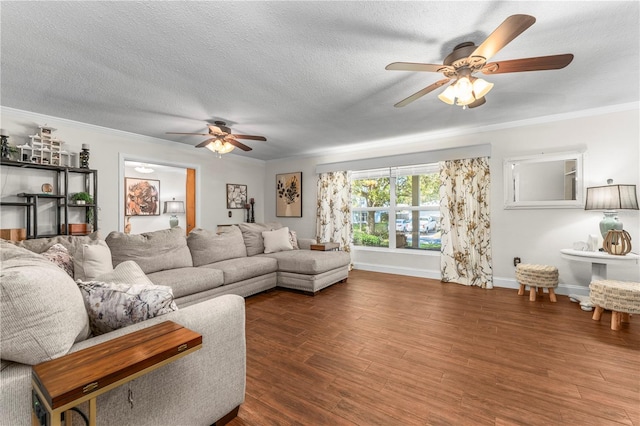
[(504, 161), (504, 208), (584, 208), (580, 152)]

